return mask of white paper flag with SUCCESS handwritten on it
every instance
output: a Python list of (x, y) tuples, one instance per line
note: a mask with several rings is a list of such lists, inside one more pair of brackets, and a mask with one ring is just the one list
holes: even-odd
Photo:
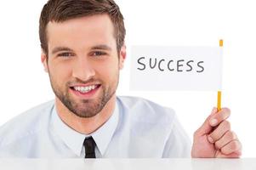
[(131, 90), (221, 89), (222, 48), (131, 48)]

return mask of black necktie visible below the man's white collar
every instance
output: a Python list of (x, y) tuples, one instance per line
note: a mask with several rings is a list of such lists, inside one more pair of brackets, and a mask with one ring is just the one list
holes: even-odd
[(85, 148), (85, 158), (95, 158), (95, 142), (93, 137), (84, 139), (83, 146)]

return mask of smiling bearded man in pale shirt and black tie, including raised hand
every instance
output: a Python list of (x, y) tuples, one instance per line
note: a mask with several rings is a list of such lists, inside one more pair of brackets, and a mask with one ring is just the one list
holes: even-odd
[(49, 0), (40, 17), (42, 63), (56, 96), (0, 129), (2, 157), (239, 157), (228, 109), (190, 140), (174, 111), (117, 97), (126, 58), (122, 14), (113, 0)]

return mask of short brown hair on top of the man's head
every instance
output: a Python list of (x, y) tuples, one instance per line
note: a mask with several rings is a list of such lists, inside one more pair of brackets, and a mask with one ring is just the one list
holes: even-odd
[(46, 31), (48, 22), (63, 22), (94, 14), (108, 14), (110, 16), (114, 26), (117, 52), (119, 53), (124, 43), (125, 27), (123, 16), (114, 0), (48, 0), (48, 3), (43, 7), (39, 21), (39, 36), (43, 52), (48, 55)]

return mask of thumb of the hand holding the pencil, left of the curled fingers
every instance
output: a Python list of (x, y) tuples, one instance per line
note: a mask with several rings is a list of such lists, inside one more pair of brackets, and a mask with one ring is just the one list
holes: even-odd
[(209, 115), (205, 122), (203, 122), (202, 126), (196, 130), (196, 136), (203, 136), (204, 134), (208, 134), (213, 130), (213, 127), (210, 125), (209, 120), (216, 112), (217, 108), (214, 107), (213, 111), (211, 112), (211, 115)]

